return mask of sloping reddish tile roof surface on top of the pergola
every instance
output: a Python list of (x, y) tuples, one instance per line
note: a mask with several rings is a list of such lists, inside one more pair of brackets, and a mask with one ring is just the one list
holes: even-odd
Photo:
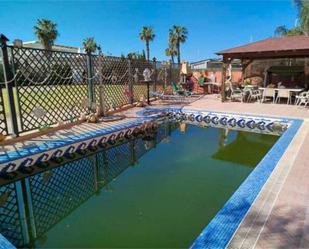
[(216, 54), (224, 55), (296, 50), (309, 50), (309, 36), (287, 36), (280, 38), (268, 38), (240, 47), (222, 50), (217, 52)]

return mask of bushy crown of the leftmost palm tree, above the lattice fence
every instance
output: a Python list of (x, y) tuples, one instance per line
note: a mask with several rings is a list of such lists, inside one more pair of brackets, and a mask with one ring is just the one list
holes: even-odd
[(57, 24), (47, 19), (38, 19), (37, 24), (33, 27), (34, 33), (46, 50), (51, 50), (54, 41), (57, 39), (59, 33), (57, 31)]

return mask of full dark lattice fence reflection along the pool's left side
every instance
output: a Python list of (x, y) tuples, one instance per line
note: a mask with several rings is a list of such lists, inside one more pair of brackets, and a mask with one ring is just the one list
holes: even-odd
[[(170, 129), (167, 124), (160, 126), (155, 133), (155, 142), (145, 138), (129, 140), (30, 176), (21, 180), (27, 184), (26, 189), (19, 187), (19, 194), (15, 186), (21, 186), (20, 181), (0, 187), (0, 233), (16, 246), (28, 244), (29, 239), (33, 241), (43, 235), (90, 198), (98, 187), (106, 186), (137, 163), (138, 158), (153, 147), (147, 147), (148, 143), (155, 145), (160, 142), (170, 134)], [(27, 202), (23, 201), (22, 192), (26, 193)], [(20, 216), (25, 212), (29, 215), (28, 228)]]

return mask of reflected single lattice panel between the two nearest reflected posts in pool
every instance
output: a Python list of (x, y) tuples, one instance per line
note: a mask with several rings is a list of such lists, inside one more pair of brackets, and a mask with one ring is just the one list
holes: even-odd
[(29, 178), (36, 232), (40, 236), (95, 191), (91, 158)]

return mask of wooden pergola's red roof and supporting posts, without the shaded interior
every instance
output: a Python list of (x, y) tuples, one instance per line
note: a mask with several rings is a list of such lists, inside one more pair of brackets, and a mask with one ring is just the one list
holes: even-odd
[[(222, 50), (216, 54), (223, 56), (221, 94), (222, 101), (224, 101), (226, 73), (233, 59), (241, 60), (242, 77), (244, 77), (246, 68), (255, 59), (309, 57), (309, 36), (268, 38), (265, 40), (245, 44), (243, 46)], [(305, 76), (309, 75), (307, 60), (305, 60), (304, 64), (304, 73)]]

